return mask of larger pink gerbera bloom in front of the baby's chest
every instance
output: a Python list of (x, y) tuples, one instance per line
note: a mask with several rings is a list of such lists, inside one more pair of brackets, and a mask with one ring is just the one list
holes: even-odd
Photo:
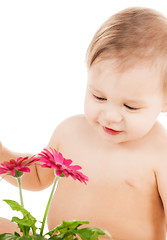
[(51, 149), (51, 152), (44, 149), (40, 153), (40, 161), (45, 163), (42, 167), (53, 168), (56, 171), (56, 175), (65, 175), (65, 177), (71, 176), (74, 180), (79, 180), (80, 182), (88, 181), (88, 177), (78, 170), (82, 169), (79, 165), (71, 165), (71, 159), (65, 159), (61, 153), (58, 153), (55, 149)]

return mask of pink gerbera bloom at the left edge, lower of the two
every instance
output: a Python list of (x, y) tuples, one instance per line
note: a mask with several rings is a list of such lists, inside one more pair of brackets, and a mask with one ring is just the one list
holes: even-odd
[(17, 160), (10, 159), (0, 164), (0, 174), (10, 174), (15, 176), (15, 171), (30, 172), (29, 166), (39, 161), (39, 158), (32, 157), (19, 157)]

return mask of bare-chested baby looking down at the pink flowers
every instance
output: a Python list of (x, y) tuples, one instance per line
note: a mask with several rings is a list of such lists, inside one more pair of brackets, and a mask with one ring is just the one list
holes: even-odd
[[(114, 240), (165, 240), (167, 131), (157, 117), (167, 111), (167, 19), (147, 8), (115, 14), (95, 34), (87, 66), (85, 114), (63, 121), (47, 148), (81, 165), (89, 182), (59, 182), (48, 228), (88, 220)], [(18, 156), (2, 146), (1, 162)], [(23, 187), (42, 190), (53, 179), (34, 166)], [(5, 227), (15, 225), (1, 219)]]

